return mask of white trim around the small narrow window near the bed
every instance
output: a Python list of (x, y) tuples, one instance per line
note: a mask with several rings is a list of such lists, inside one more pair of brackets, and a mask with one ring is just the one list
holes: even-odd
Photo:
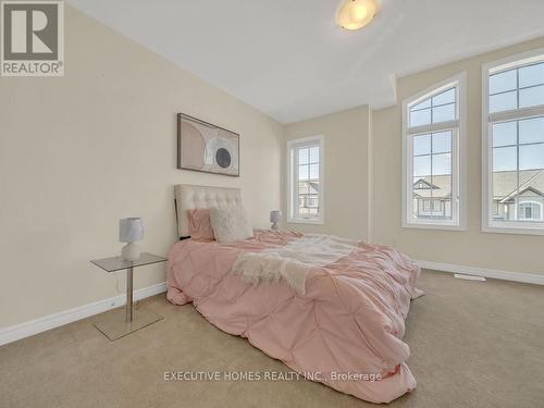
[[(323, 135), (302, 137), (287, 141), (287, 222), (294, 224), (324, 224), (325, 220), (325, 183), (324, 183), (324, 152), (325, 138)], [(293, 149), (304, 145), (319, 144), (319, 178), (320, 178), (320, 195), (319, 195), (319, 217), (305, 219), (293, 217), (295, 211), (295, 195), (294, 195), (294, 156)]]

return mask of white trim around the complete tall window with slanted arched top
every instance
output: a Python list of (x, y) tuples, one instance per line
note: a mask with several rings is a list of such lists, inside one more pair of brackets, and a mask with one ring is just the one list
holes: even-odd
[[(467, 231), (467, 73), (462, 72), (450, 78), (442, 81), (429, 88), (422, 90), (421, 92), (405, 99), (403, 101), (403, 227), (405, 228), (425, 228), (425, 230), (447, 230), (447, 231)], [(412, 172), (411, 172), (411, 158), (408, 158), (408, 152), (411, 150), (409, 148), (409, 143), (412, 138), (408, 137), (408, 107), (410, 104), (417, 104), (419, 101), (426, 99), (430, 95), (440, 94), (443, 90), (450, 88), (452, 86), (457, 86), (457, 101), (456, 108), (458, 113), (458, 120), (442, 122), (425, 126), (411, 127), (410, 135), (417, 134), (418, 129), (428, 132), (437, 132), (444, 128), (457, 127), (458, 135), (453, 137), (454, 140), (458, 140), (458, 146), (454, 145), (454, 151), (457, 154), (453, 154), (453, 173), (456, 171), (458, 174), (458, 205), (457, 205), (457, 220), (452, 221), (440, 221), (440, 220), (416, 220), (409, 213), (410, 206), (408, 206), (408, 200), (412, 200), (412, 190), (408, 190), (408, 186), (413, 184)], [(455, 141), (454, 141), (455, 144)], [(453, 153), (454, 153), (453, 151)], [(454, 156), (457, 156), (455, 158)]]

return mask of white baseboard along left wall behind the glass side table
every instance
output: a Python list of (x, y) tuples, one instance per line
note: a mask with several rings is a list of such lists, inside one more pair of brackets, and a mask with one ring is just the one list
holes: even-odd
[[(154, 296), (163, 292), (166, 292), (165, 282), (134, 290), (134, 299), (144, 299), (146, 297)], [(0, 346), (3, 344), (15, 342), (20, 338), (28, 337), (34, 334), (38, 334), (67, 323), (75, 322), (76, 320), (88, 318), (92, 314), (102, 313), (125, 304), (126, 296), (119, 295), (110, 297), (109, 299), (95, 301), (92, 304), (79, 306), (54, 314), (45, 316), (44, 318), (0, 329)]]

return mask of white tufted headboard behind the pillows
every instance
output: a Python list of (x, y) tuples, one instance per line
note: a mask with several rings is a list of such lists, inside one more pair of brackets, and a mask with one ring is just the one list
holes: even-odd
[(177, 184), (174, 187), (174, 194), (177, 214), (177, 234), (180, 238), (189, 236), (187, 210), (212, 207), (228, 208), (242, 205), (242, 191), (239, 188)]

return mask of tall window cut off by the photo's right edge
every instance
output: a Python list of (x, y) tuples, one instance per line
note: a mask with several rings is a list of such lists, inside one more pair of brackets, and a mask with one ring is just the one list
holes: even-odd
[(483, 231), (543, 234), (544, 50), (483, 66)]

